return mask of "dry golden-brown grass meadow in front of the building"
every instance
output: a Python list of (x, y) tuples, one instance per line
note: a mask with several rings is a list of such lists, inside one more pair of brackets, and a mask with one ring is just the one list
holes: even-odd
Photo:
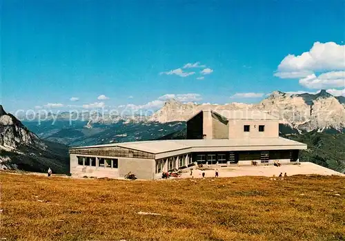
[(0, 239), (345, 240), (344, 177), (0, 181)]

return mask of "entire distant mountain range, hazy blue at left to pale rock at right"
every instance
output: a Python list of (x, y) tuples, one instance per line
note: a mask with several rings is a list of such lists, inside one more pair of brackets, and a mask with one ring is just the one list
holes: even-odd
[[(287, 128), (292, 128), (299, 133), (304, 131), (322, 132), (328, 129), (342, 132), (345, 128), (345, 97), (334, 97), (321, 90), (317, 94), (289, 94), (279, 90), (270, 93), (265, 99), (257, 104), (230, 103), (197, 104), (181, 103), (175, 99), (168, 99), (164, 106), (151, 116), (142, 115), (108, 115), (93, 112), (76, 113), (49, 113), (47, 121), (68, 121), (70, 118), (75, 123), (86, 122), (86, 128), (92, 128), (95, 124), (112, 125), (117, 123), (169, 123), (186, 122), (186, 120), (200, 110), (262, 110), (275, 117)], [(31, 118), (31, 117), (30, 117)], [(41, 118), (41, 119), (44, 119)], [(33, 118), (39, 119), (38, 116)], [(73, 124), (72, 124), (73, 125)], [(70, 125), (70, 126), (72, 126)]]

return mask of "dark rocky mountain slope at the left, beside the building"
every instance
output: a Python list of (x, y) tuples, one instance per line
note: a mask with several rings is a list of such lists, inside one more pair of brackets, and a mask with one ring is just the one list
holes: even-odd
[(68, 148), (45, 142), (0, 105), (0, 169), (68, 173)]

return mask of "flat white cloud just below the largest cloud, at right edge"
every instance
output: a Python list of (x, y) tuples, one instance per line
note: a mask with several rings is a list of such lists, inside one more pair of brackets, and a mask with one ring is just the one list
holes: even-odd
[(339, 88), (345, 87), (345, 71), (332, 71), (319, 76), (308, 75), (299, 79), (299, 84), (307, 88)]

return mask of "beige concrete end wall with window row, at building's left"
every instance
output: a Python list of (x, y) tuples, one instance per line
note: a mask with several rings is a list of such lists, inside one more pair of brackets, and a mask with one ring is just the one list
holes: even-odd
[[(103, 166), (98, 166), (98, 161), (97, 166), (81, 166), (78, 165), (77, 156), (117, 159), (118, 168), (106, 168)], [(124, 175), (129, 172), (137, 175), (139, 179), (152, 180), (155, 175), (155, 160), (130, 157), (108, 157), (70, 154), (70, 173), (75, 176), (116, 178), (124, 177)]]

